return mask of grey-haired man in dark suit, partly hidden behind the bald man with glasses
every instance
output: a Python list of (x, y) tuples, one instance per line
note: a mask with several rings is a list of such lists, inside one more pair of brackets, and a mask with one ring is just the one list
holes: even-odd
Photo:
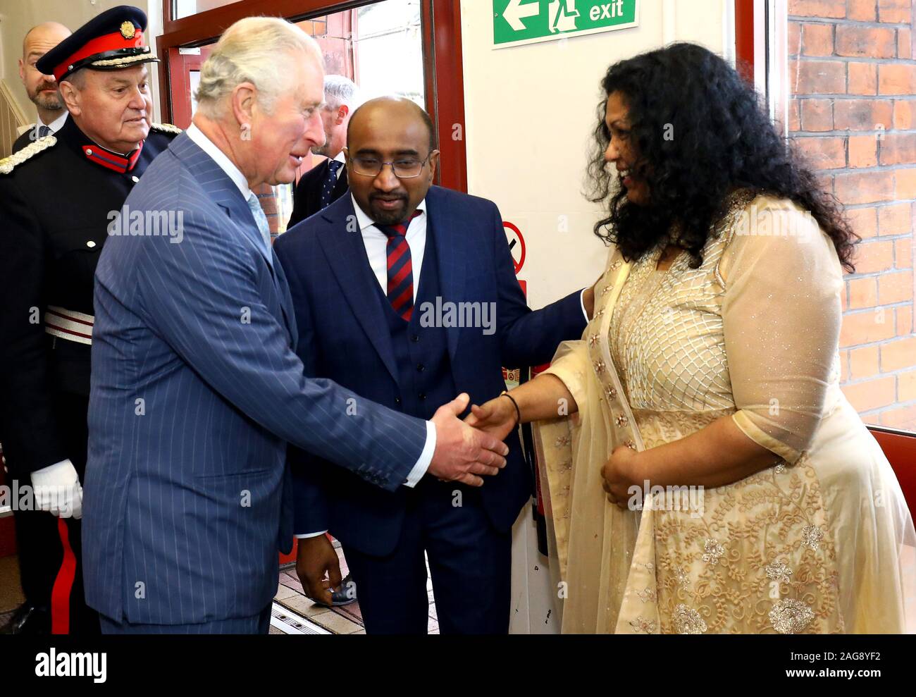
[(324, 76), (324, 145), (312, 147), (311, 152), (327, 159), (303, 174), (296, 184), (287, 223), (289, 227), (326, 208), (347, 192), (344, 167), (346, 129), (359, 103), (359, 88), (352, 80), (343, 75)]

